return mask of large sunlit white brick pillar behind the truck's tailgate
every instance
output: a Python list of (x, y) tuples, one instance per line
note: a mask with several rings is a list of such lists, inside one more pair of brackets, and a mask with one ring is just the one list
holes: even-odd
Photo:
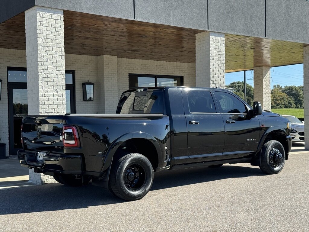
[[(28, 114), (65, 114), (63, 10), (34, 6), (25, 11)], [(39, 184), (55, 180), (29, 170)]]

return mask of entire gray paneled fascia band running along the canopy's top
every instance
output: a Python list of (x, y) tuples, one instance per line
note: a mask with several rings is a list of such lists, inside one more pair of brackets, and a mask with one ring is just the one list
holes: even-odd
[(309, 44), (305, 0), (1, 0), (0, 23), (34, 5)]

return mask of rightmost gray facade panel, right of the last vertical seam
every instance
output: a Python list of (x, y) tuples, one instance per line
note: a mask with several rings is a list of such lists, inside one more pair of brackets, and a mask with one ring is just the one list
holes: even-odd
[(266, 37), (309, 43), (309, 2), (266, 0)]

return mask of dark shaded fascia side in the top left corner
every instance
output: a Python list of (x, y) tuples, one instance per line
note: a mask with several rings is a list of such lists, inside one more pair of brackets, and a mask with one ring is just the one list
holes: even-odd
[(0, 2), (0, 23), (28, 10), (35, 5), (35, 0), (1, 0)]

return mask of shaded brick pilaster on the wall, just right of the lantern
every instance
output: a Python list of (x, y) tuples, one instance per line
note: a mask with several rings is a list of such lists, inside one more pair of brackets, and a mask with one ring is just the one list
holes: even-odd
[(117, 57), (102, 55), (98, 57), (99, 113), (115, 114), (118, 98)]

